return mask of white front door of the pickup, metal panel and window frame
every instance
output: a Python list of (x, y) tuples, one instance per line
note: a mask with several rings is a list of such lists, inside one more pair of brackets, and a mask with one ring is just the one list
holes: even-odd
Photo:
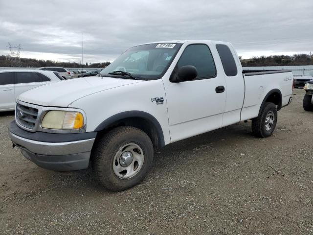
[[(166, 91), (169, 129), (171, 140), (179, 141), (191, 136), (208, 132), (222, 126), (226, 103), (226, 93), (215, 92), (217, 86), (226, 86), (224, 74), (217, 73), (215, 78), (173, 83), (169, 77), (184, 49), (198, 40), (188, 41), (180, 48), (171, 67), (162, 80)], [(213, 57), (218, 56), (213, 42), (205, 42)], [(215, 61), (217, 71), (223, 70), (222, 64)]]

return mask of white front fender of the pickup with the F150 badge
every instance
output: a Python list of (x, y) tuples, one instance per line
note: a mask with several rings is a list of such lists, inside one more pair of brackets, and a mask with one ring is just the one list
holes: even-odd
[[(157, 102), (158, 98), (162, 98), (163, 102)], [(163, 136), (162, 145), (171, 142), (166, 96), (161, 79), (90, 94), (74, 101), (70, 107), (80, 107), (84, 110), (87, 117), (87, 132), (99, 131), (119, 118), (132, 116), (155, 123), (158, 135)]]

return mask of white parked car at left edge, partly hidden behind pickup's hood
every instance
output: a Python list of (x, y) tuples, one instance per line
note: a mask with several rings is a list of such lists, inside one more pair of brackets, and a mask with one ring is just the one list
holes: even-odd
[(15, 109), (18, 95), (47, 83), (64, 80), (57, 72), (41, 70), (0, 71), (0, 112)]

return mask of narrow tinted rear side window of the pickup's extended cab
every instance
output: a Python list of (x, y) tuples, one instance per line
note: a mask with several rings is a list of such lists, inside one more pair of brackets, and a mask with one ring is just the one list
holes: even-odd
[(223, 44), (217, 44), (216, 49), (219, 52), (225, 74), (228, 77), (236, 76), (237, 66), (229, 47)]

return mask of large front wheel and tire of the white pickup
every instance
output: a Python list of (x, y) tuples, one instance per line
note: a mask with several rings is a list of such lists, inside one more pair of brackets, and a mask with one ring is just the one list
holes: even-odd
[(140, 129), (116, 127), (97, 140), (91, 161), (95, 178), (102, 186), (112, 191), (125, 190), (137, 185), (149, 171), (152, 141)]

